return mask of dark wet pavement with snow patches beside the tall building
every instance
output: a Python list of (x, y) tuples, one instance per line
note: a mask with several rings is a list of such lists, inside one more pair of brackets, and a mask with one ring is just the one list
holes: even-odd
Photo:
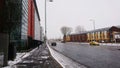
[(62, 68), (50, 55), (48, 48), (40, 45), (30, 52), (17, 53), (14, 61), (9, 61), (9, 66), (3, 68)]

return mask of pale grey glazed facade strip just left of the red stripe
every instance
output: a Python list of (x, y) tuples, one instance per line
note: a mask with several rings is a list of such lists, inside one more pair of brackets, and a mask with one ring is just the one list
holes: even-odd
[(21, 18), (21, 46), (27, 45), (28, 31), (28, 0), (22, 0), (22, 18)]

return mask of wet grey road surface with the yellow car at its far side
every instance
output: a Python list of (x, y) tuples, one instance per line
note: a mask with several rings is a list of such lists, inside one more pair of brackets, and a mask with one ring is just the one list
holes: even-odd
[(53, 48), (88, 68), (120, 68), (120, 47), (57, 43)]

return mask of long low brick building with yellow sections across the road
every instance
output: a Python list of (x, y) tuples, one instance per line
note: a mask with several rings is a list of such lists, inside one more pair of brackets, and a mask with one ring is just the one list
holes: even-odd
[(87, 31), (80, 34), (67, 35), (66, 41), (69, 42), (119, 42), (120, 43), (120, 26)]

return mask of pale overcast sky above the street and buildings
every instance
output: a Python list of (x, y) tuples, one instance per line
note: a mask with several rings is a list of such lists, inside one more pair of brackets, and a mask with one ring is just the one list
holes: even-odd
[[(44, 2), (37, 0), (41, 25), (44, 27)], [(48, 38), (62, 37), (60, 28), (68, 26), (84, 26), (86, 30), (95, 27), (104, 28), (120, 25), (120, 0), (47, 0), (47, 36)]]

